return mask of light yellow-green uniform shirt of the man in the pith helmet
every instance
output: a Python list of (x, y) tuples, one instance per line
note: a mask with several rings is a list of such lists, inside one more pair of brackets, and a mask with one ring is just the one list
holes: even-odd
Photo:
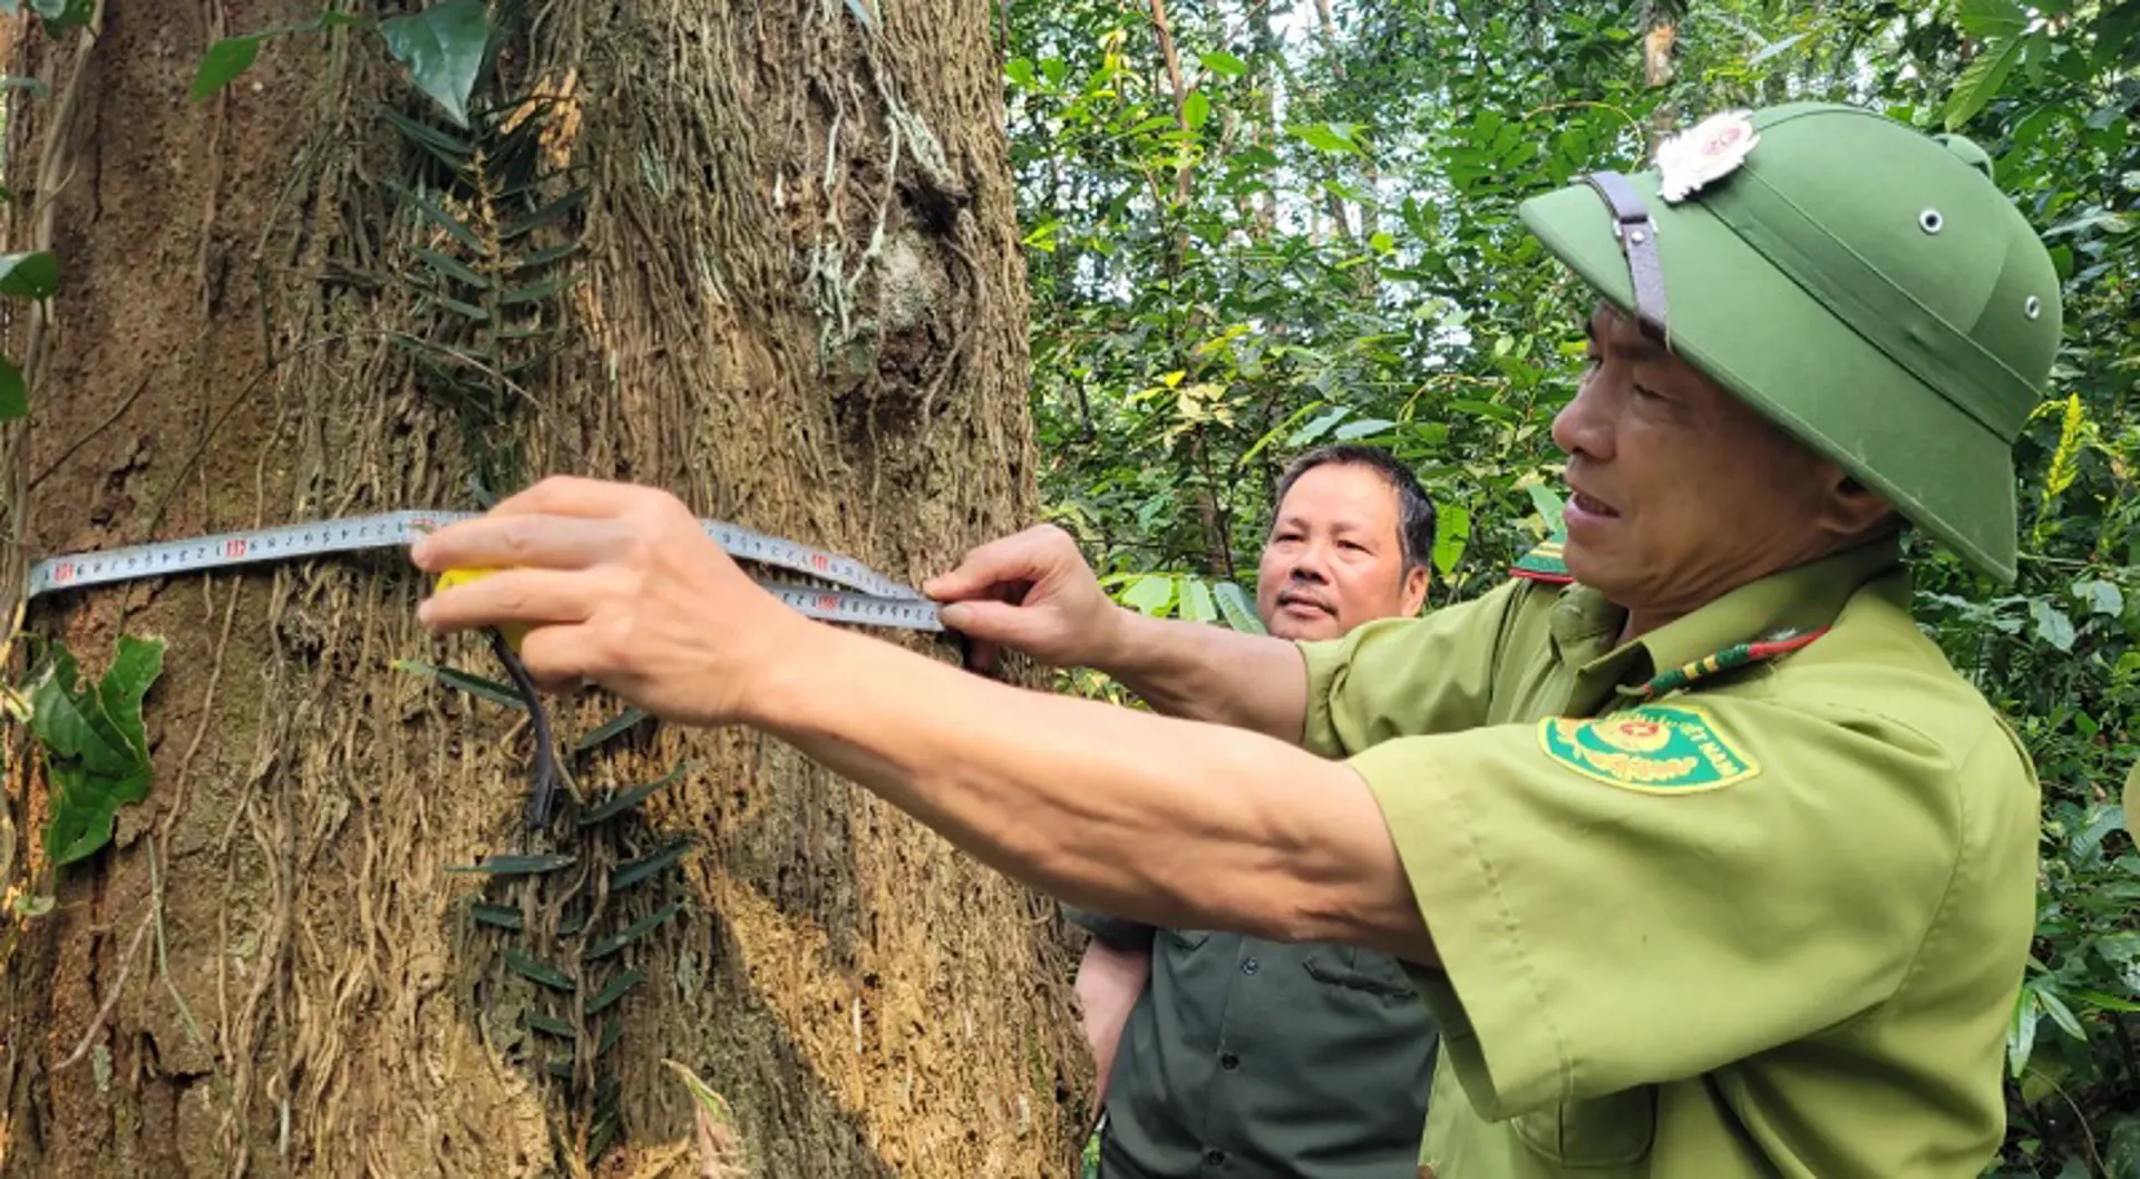
[(1442, 959), (1421, 1177), (1975, 1177), (2037, 783), (1896, 543), (1620, 625), (1513, 580), (1305, 644), (1308, 747), (1372, 787)]

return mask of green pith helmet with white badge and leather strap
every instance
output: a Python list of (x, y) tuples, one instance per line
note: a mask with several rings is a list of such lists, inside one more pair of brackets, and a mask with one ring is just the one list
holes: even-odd
[(2001, 582), (2059, 276), (1967, 139), (1855, 107), (1706, 120), (1524, 223), (1673, 353)]

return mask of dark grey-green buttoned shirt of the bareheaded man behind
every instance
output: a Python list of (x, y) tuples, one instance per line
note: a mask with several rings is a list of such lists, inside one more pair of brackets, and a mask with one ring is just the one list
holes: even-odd
[(1151, 946), (1109, 1074), (1100, 1179), (1412, 1179), (1434, 1021), (1395, 959), (1066, 914)]

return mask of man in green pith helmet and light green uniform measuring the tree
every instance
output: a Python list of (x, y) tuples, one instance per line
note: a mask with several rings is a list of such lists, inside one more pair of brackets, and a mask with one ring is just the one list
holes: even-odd
[(533, 623), (546, 683), (779, 734), (1070, 903), (1410, 963), (1421, 1177), (1973, 1177), (2039, 796), (1913, 625), (1898, 533), (2014, 576), (2061, 308), (1990, 171), (1789, 105), (1524, 203), (1596, 293), (1592, 366), (1554, 422), (1566, 535), (1481, 599), (1288, 644), (1124, 612), (1046, 529), (927, 586), (976, 650), (1166, 715), (809, 623), (612, 484), (422, 541), (529, 567), (422, 616)]

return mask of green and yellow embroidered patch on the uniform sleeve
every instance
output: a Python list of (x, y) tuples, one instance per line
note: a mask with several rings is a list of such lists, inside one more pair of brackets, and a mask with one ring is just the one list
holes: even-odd
[(1562, 766), (1644, 794), (1723, 790), (1761, 772), (1708, 710), (1644, 704), (1611, 717), (1539, 721), (1539, 747)]

